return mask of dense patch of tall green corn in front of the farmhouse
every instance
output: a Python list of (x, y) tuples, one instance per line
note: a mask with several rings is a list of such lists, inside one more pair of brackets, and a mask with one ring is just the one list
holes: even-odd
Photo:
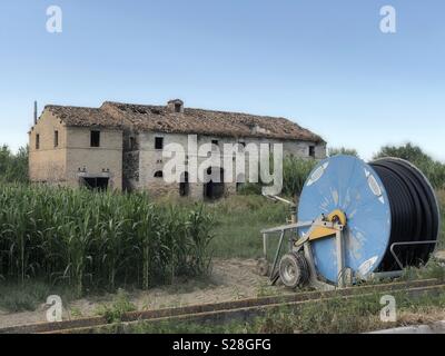
[(206, 273), (212, 217), (145, 194), (0, 187), (0, 279), (67, 284), (78, 295), (149, 288)]

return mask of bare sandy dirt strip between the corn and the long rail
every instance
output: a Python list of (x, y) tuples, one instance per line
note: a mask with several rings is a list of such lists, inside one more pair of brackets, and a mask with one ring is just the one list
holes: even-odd
[[(285, 291), (283, 287), (270, 287), (268, 278), (256, 273), (256, 265), (254, 259), (215, 259), (211, 275), (206, 279), (136, 291), (129, 295), (129, 299), (141, 310), (236, 300)], [(72, 301), (65, 306), (63, 318), (95, 316), (98, 307), (112, 303), (113, 297), (107, 295)], [(8, 314), (0, 310), (0, 328), (44, 323), (46, 310), (44, 304), (34, 312)]]

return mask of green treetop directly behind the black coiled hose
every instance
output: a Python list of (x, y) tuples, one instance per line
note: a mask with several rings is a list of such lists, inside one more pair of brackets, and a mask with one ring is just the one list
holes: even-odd
[(445, 165), (434, 160), (422, 148), (412, 144), (404, 146), (385, 146), (375, 155), (375, 159), (383, 157), (397, 157), (417, 166), (436, 189), (445, 188)]

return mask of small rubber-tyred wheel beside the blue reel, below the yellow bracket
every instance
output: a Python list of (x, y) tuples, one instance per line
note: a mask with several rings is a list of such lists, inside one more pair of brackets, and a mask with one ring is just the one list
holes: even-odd
[(279, 261), (279, 277), (288, 288), (297, 288), (307, 283), (309, 277), (306, 259), (303, 254), (287, 254)]

